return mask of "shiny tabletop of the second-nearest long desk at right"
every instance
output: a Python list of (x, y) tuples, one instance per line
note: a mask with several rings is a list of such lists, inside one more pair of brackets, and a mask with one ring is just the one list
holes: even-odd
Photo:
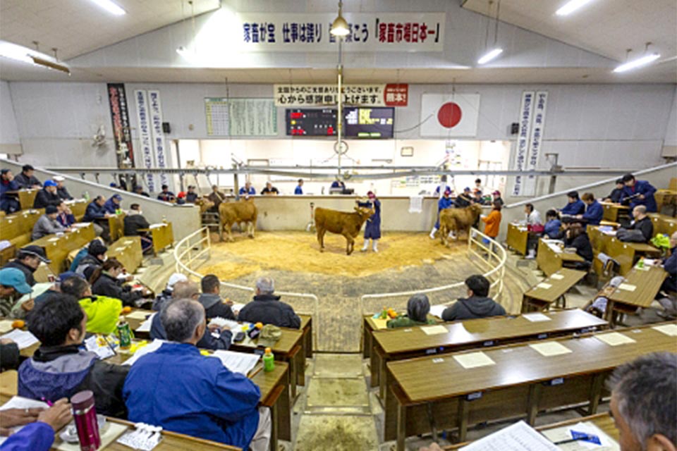
[(441, 346), (463, 346), (487, 341), (508, 340), (525, 335), (564, 332), (584, 328), (604, 328), (606, 321), (579, 309), (547, 312), (551, 321), (529, 321), (524, 316), (496, 316), (470, 319), (440, 326), (449, 333), (427, 335), (420, 326), (374, 332), (374, 340), (386, 354), (427, 350)]

